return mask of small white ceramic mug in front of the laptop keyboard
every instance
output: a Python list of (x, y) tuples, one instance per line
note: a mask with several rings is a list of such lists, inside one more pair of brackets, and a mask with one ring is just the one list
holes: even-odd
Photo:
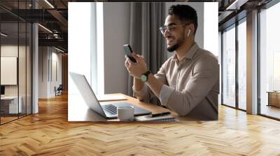
[(133, 106), (121, 106), (117, 108), (118, 119), (120, 121), (132, 121), (134, 120), (134, 107)]

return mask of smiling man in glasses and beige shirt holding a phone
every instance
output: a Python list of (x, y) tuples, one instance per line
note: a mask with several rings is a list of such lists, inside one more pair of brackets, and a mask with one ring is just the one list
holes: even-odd
[(156, 75), (148, 70), (143, 56), (133, 54), (137, 63), (125, 56), (125, 66), (134, 77), (135, 96), (148, 102), (155, 95), (179, 116), (217, 120), (218, 61), (195, 42), (195, 9), (188, 5), (171, 6), (160, 31), (167, 41), (167, 50), (176, 54), (163, 63)]

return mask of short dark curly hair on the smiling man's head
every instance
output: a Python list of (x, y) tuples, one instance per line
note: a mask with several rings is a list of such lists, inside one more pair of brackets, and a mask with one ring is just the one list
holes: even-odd
[(176, 15), (181, 21), (188, 21), (195, 25), (195, 33), (197, 32), (197, 11), (188, 5), (170, 6), (168, 15)]

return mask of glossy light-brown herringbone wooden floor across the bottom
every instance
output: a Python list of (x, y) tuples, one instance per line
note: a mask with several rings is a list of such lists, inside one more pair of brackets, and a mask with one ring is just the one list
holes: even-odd
[(280, 155), (280, 122), (219, 107), (219, 120), (69, 123), (67, 97), (0, 126), (0, 155)]

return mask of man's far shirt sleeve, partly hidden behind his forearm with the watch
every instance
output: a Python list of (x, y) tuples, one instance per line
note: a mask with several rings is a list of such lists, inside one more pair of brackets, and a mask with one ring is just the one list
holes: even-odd
[[(158, 73), (155, 74), (154, 76), (158, 80), (162, 81), (163, 84), (168, 85), (167, 79), (166, 79), (166, 72), (165, 72), (166, 64), (167, 64), (167, 61), (162, 64), (162, 67), (160, 68), (160, 70), (158, 70)], [(155, 94), (153, 93), (153, 91), (151, 91), (151, 89), (148, 88), (148, 86), (146, 84), (144, 84), (143, 88), (141, 88), (140, 91), (136, 91), (134, 89), (134, 86), (132, 86), (132, 90), (134, 92), (134, 97), (137, 97), (140, 101), (149, 102), (151, 100), (151, 98), (155, 97)]]

